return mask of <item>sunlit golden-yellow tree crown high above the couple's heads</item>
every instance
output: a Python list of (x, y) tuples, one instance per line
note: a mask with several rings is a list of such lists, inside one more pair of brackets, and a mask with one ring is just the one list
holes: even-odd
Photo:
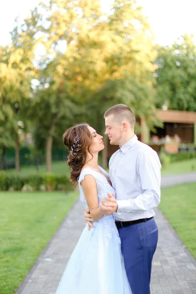
[(156, 50), (136, 1), (116, 0), (109, 15), (100, 12), (99, 1), (90, 0), (52, 0), (44, 8), (49, 18), (47, 28), (42, 28), (48, 34), (43, 44), (54, 53), (59, 41), (65, 41), (57, 70), (65, 73), (73, 95), (87, 89), (95, 92), (107, 79), (125, 74), (152, 79)]

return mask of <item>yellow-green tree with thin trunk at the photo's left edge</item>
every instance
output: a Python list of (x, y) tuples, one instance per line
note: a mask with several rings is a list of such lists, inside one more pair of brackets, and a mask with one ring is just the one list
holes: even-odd
[[(0, 127), (6, 133), (2, 138), (2, 154), (6, 147), (12, 146), (10, 135), (15, 138), (16, 170), (20, 171), (20, 136), (22, 125), (26, 122), (25, 99), (30, 98), (30, 79), (34, 70), (33, 46), (31, 38), (25, 35), (16, 24), (11, 32), (12, 43), (0, 47)], [(9, 120), (9, 121), (7, 121)], [(26, 123), (25, 123), (26, 125)], [(9, 134), (9, 135), (8, 135)], [(7, 136), (7, 138), (6, 138)]]

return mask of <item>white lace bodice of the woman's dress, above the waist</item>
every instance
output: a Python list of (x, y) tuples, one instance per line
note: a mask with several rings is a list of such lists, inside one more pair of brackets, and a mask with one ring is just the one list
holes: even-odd
[[(99, 167), (99, 168), (109, 179), (109, 174), (105, 170), (103, 170), (101, 167)], [(86, 202), (86, 198), (85, 198), (82, 186), (80, 185), (80, 182), (84, 179), (85, 175), (87, 175), (87, 174), (91, 174), (96, 180), (97, 191), (98, 191), (98, 204), (103, 200), (104, 197), (108, 197), (108, 195), (107, 195), (108, 192), (115, 194), (114, 188), (111, 187), (111, 185), (108, 183), (106, 177), (103, 174), (96, 172), (96, 171), (92, 170), (91, 168), (85, 168), (82, 170), (82, 172), (80, 173), (79, 178), (78, 178), (80, 200), (84, 204), (85, 207), (88, 207), (88, 204)]]

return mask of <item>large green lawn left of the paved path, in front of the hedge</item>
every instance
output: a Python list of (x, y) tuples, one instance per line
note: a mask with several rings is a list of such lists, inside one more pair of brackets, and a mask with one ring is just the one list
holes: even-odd
[(0, 294), (13, 294), (78, 193), (0, 193)]

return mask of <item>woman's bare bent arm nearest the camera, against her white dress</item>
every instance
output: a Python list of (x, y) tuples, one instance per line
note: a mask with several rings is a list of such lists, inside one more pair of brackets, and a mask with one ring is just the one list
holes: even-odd
[(95, 178), (87, 174), (80, 182), (80, 185), (82, 185), (92, 219), (94, 221), (100, 220), (104, 216), (104, 212), (98, 207), (98, 193)]

